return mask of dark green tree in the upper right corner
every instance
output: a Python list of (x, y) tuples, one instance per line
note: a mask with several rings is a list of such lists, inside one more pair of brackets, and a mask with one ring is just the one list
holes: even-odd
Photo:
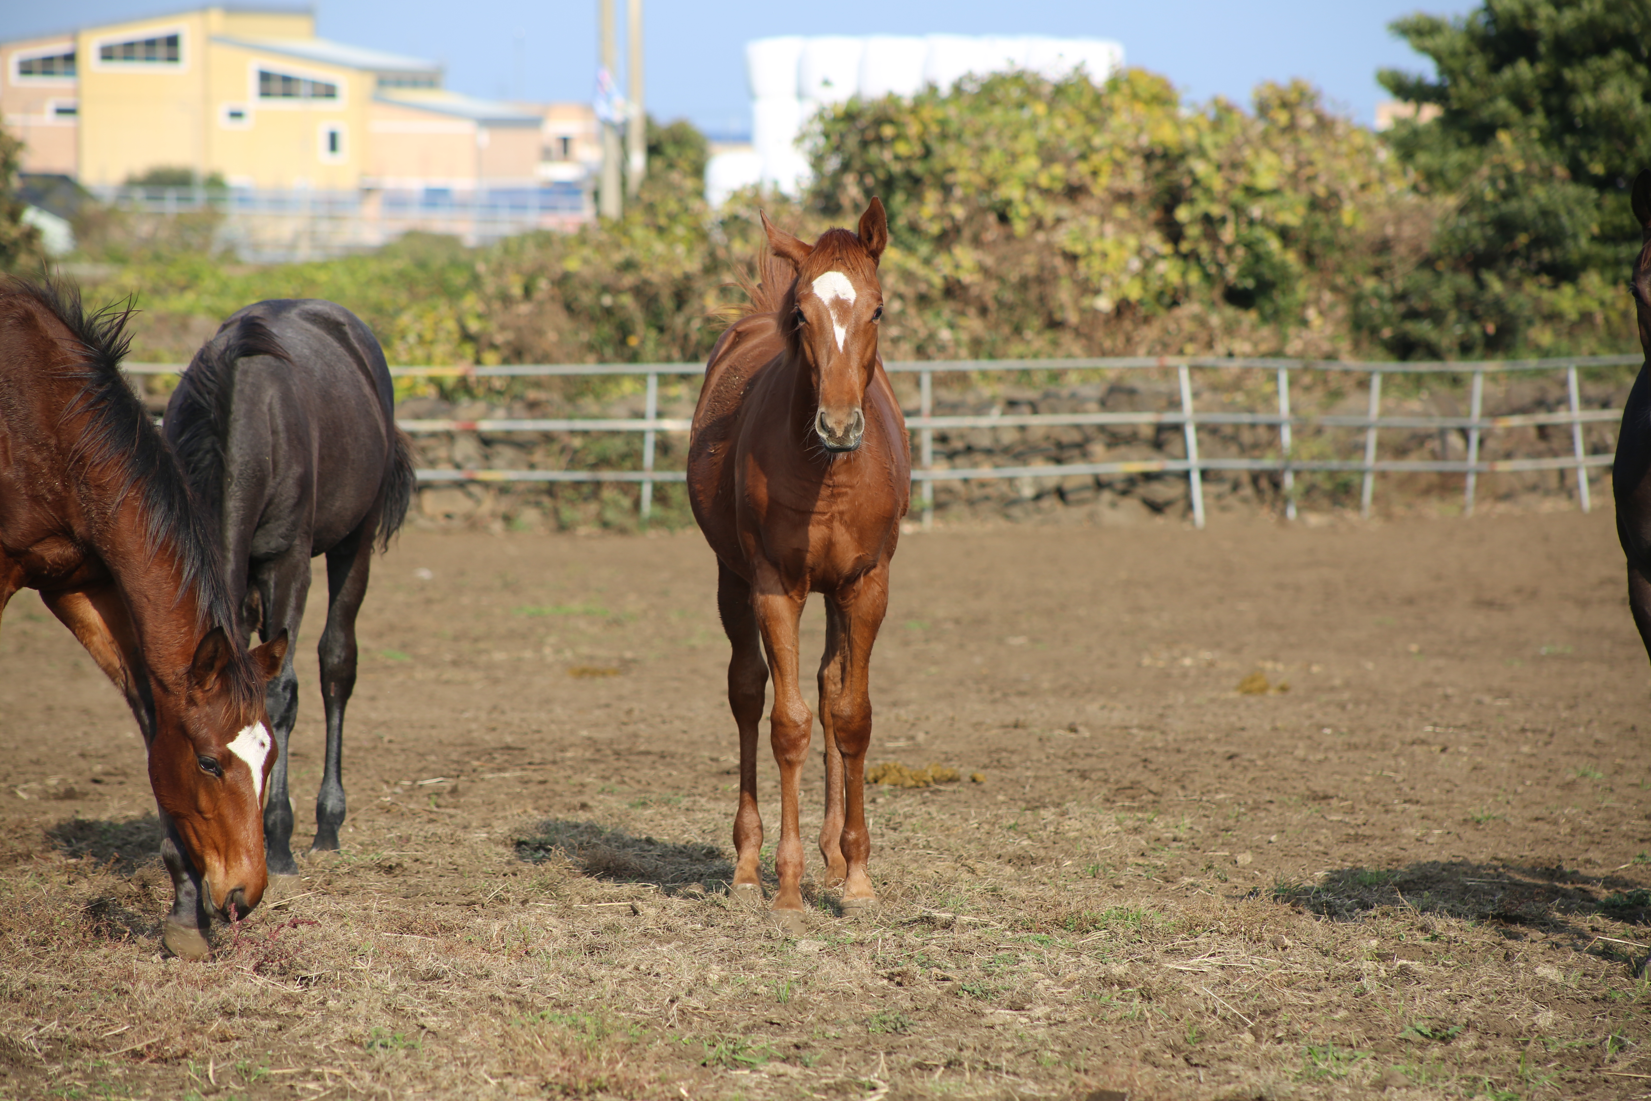
[(1380, 304), (1390, 347), (1509, 350), (1539, 299), (1590, 274), (1615, 281), (1639, 246), (1628, 187), (1651, 165), (1651, 0), (1486, 0), (1392, 28), (1438, 76), (1379, 74), (1431, 116), (1398, 122), (1390, 142), (1446, 203), (1431, 262)]

